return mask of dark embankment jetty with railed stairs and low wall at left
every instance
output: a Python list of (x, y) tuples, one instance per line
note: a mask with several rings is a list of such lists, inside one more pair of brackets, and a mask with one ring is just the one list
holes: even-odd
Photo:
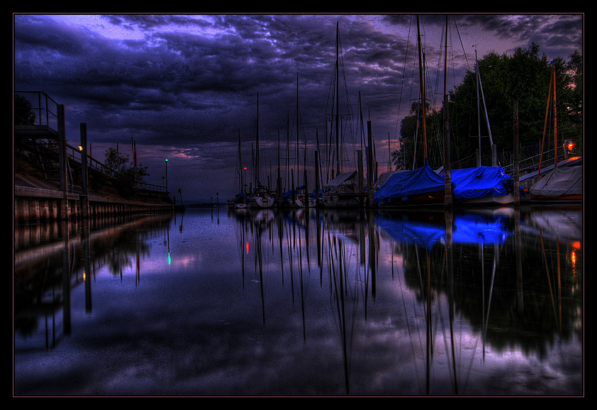
[(80, 145), (69, 145), (64, 106), (43, 92), (19, 94), (29, 104), (26, 114), (18, 111), (18, 104), (15, 109), (15, 223), (176, 210), (164, 187), (137, 183), (133, 189), (119, 189), (113, 172), (88, 155), (85, 123), (80, 124)]

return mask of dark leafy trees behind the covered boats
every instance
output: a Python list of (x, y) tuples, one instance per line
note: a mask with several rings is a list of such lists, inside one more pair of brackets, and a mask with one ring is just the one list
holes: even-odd
[[(575, 151), (582, 152), (583, 65), (582, 55), (578, 51), (569, 55), (568, 61), (562, 57), (549, 60), (545, 55), (540, 55), (539, 45), (532, 43), (528, 49), (518, 48), (511, 56), (490, 52), (478, 63), (485, 100), (485, 104), (482, 101), (479, 104), (481, 135), (484, 137), (481, 138), (481, 165), (491, 165), (484, 105), (500, 165), (511, 163), (514, 101), (518, 101), (521, 160), (540, 153), (552, 72), (555, 72), (556, 78), (558, 150), (563, 147), (564, 140), (573, 140)], [(462, 83), (449, 92), (452, 167), (476, 166), (476, 152), (479, 149), (477, 95), (475, 70), (467, 71)], [(553, 92), (551, 95), (553, 99)], [(545, 150), (554, 148), (552, 105), (553, 101), (549, 107)], [(425, 108), (428, 160), (431, 167), (437, 168), (443, 165), (444, 109), (431, 109), (428, 104), (425, 104)], [(421, 123), (419, 113), (420, 102), (413, 103), (410, 114), (401, 122), (399, 139), (402, 149), (392, 153), (395, 169), (411, 169), (415, 155), (415, 167), (423, 165), (423, 133), (420, 128), (417, 132)]]

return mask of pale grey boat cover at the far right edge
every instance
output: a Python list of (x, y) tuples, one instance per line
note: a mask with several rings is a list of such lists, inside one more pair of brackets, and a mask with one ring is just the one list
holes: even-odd
[(531, 195), (557, 198), (583, 194), (583, 167), (557, 167), (541, 177), (529, 192)]

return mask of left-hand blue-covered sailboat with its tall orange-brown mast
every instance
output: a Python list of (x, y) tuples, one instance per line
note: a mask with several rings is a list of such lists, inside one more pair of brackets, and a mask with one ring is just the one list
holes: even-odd
[(419, 16), (417, 16), (417, 40), (425, 164), (415, 170), (403, 170), (389, 174), (386, 183), (374, 193), (374, 200), (380, 207), (435, 206), (443, 205), (445, 202), (445, 179), (430, 167), (428, 161), (427, 128), (425, 124), (425, 81), (423, 78), (423, 52), (420, 43)]

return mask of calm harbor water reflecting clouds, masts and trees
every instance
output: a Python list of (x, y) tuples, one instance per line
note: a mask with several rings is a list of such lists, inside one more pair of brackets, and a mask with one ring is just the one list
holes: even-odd
[(15, 396), (584, 394), (581, 208), (187, 209), (14, 240)]

